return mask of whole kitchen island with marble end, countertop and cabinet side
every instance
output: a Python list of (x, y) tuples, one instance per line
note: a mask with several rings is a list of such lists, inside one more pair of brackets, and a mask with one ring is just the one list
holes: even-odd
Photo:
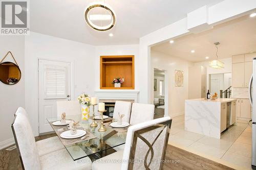
[(185, 100), (185, 130), (220, 139), (237, 122), (237, 99)]

